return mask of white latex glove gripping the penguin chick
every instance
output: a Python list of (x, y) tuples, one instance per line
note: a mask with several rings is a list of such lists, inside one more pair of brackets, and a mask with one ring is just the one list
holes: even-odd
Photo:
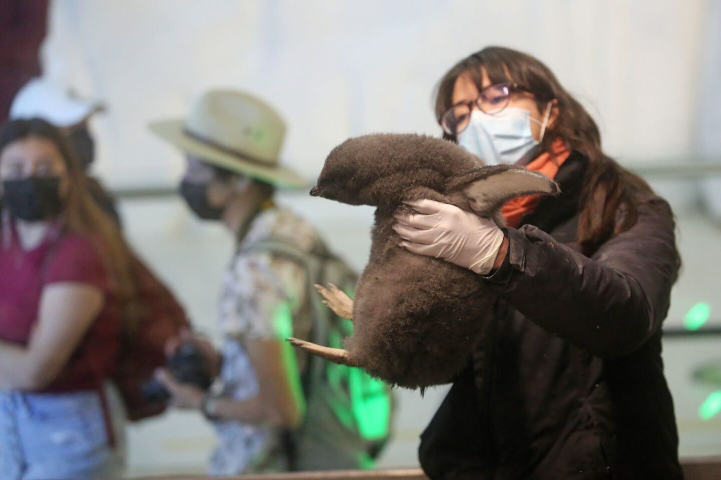
[(407, 201), (418, 214), (396, 214), (393, 230), (413, 253), (442, 258), (486, 275), (503, 243), (503, 231), (491, 219), (433, 200)]

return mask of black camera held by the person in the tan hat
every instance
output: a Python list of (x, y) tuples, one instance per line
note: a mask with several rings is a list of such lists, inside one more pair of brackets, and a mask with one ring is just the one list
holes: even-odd
[[(181, 384), (190, 384), (199, 389), (208, 390), (213, 384), (213, 376), (205, 368), (203, 355), (195, 343), (182, 343), (177, 352), (167, 360), (170, 374)], [(170, 393), (157, 379), (151, 379), (142, 388), (147, 402), (164, 403), (170, 399)]]

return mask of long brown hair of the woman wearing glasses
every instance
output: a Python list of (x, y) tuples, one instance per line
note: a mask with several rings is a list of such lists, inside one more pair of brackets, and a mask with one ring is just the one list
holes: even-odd
[[(557, 100), (559, 114), (552, 129), (546, 130), (541, 149), (553, 155), (551, 145), (560, 138), (569, 150), (579, 150), (588, 157), (578, 222), (578, 241), (585, 255), (596, 251), (611, 235), (632, 227), (637, 222), (639, 202), (653, 194), (653, 190), (642, 178), (603, 153), (596, 122), (561, 86), (553, 72), (531, 55), (510, 48), (486, 47), (454, 65), (435, 91), (438, 122), (453, 104), (456, 79), (468, 76), (480, 91), (482, 69), (492, 84), (514, 81), (526, 87), (536, 98), (539, 111), (546, 108), (548, 101)], [(619, 211), (624, 214), (617, 222)]]

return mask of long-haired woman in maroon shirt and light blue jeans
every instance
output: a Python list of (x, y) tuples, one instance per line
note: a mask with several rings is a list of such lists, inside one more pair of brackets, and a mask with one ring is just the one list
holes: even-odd
[(131, 318), (128, 247), (45, 120), (4, 125), (0, 181), (0, 478), (114, 478), (123, 418), (107, 379)]

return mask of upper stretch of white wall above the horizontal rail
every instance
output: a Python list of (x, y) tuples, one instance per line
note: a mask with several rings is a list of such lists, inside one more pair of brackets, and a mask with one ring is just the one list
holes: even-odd
[(607, 150), (691, 150), (704, 1), (56, 0), (49, 76), (107, 102), (96, 122), (111, 185), (174, 181), (177, 155), (151, 119), (232, 86), (290, 124), (285, 158), (309, 178), (349, 135), (437, 133), (435, 82), (485, 45), (544, 60), (589, 107)]

